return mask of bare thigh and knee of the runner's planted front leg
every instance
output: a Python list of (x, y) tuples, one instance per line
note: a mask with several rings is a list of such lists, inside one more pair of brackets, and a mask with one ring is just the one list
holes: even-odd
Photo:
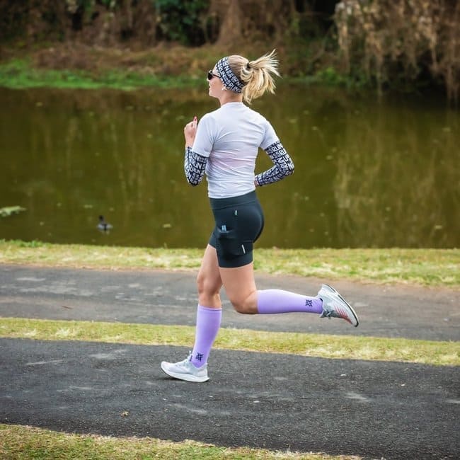
[(219, 264), (217, 263), (216, 248), (209, 244), (201, 261), (200, 271), (197, 276), (197, 287), (200, 305), (216, 309), (222, 308), (219, 294), (222, 288), (222, 279)]

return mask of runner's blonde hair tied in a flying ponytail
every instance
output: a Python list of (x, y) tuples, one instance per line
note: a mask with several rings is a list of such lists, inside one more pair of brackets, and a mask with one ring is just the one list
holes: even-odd
[(238, 54), (229, 56), (229, 67), (243, 82), (244, 86), (241, 92), (243, 99), (248, 104), (251, 103), (251, 100), (260, 98), (265, 91), (275, 93), (276, 86), (272, 74), (280, 76), (278, 60), (275, 56), (276, 50), (270, 54), (264, 54), (254, 61), (249, 61), (246, 57)]

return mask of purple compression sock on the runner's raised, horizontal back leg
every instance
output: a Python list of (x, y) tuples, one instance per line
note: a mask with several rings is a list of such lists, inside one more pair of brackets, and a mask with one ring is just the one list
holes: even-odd
[(292, 313), (321, 313), (323, 301), (319, 297), (308, 297), (281, 289), (265, 289), (257, 292), (257, 309), (260, 314)]

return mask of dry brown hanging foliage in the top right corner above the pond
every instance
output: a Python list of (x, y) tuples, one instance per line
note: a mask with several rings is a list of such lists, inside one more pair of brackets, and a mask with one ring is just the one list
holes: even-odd
[(458, 100), (459, 1), (343, 0), (334, 18), (345, 71), (364, 68), (379, 90), (401, 73), (428, 75)]

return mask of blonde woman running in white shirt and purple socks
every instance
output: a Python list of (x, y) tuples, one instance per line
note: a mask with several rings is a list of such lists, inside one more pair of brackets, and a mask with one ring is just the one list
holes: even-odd
[[(321, 318), (343, 318), (358, 326), (350, 304), (328, 284), (316, 297), (280, 289), (258, 290), (253, 270), (253, 243), (264, 219), (255, 188), (275, 183), (294, 172), (294, 163), (270, 122), (243, 103), (269, 91), (272, 75), (279, 76), (275, 50), (255, 61), (232, 55), (220, 59), (207, 74), (209, 96), (220, 108), (185, 125), (185, 176), (198, 185), (206, 174), (215, 226), (197, 277), (198, 309), (195, 345), (183, 361), (162, 362), (161, 369), (176, 379), (209, 380), (207, 360), (222, 318), (219, 292), (238, 313), (280, 314), (303, 311)], [(254, 175), (258, 148), (273, 162), (272, 168)]]

